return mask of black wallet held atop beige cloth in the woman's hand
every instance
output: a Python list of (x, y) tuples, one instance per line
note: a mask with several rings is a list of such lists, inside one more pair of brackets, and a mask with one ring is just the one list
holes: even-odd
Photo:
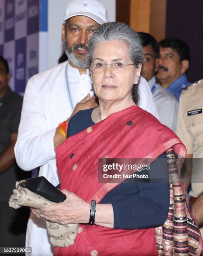
[[(36, 177), (20, 180), (18, 187), (24, 187), (33, 193), (44, 197), (52, 202), (63, 202), (66, 200), (64, 195), (59, 189), (54, 187), (45, 177)], [(17, 188), (18, 188), (17, 187)]]

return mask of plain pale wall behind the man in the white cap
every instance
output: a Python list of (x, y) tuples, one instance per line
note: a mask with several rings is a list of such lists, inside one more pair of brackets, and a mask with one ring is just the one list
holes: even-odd
[[(116, 0), (101, 0), (108, 10), (109, 21), (116, 20)], [(48, 64), (47, 68), (58, 64), (63, 52), (61, 25), (69, 0), (48, 0)]]

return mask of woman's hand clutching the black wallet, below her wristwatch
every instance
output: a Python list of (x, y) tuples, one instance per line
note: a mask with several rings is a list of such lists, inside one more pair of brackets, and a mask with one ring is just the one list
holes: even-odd
[(63, 189), (66, 200), (41, 209), (33, 209), (38, 218), (43, 218), (58, 224), (88, 223), (90, 204), (74, 193)]

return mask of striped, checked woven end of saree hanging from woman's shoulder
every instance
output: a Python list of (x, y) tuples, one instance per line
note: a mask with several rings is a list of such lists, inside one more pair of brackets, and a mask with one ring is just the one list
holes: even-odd
[(166, 152), (166, 157), (170, 182), (170, 207), (164, 225), (155, 228), (158, 255), (201, 255), (200, 231), (194, 221), (195, 217), (186, 189), (178, 174), (183, 158), (175, 155), (173, 148)]

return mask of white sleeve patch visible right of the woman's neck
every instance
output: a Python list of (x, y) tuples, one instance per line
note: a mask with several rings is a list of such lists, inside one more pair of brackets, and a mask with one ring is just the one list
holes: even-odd
[(159, 119), (159, 114), (157, 112), (154, 97), (150, 90), (150, 86), (144, 77), (140, 77), (138, 86), (140, 95), (138, 106), (154, 115), (157, 119)]

